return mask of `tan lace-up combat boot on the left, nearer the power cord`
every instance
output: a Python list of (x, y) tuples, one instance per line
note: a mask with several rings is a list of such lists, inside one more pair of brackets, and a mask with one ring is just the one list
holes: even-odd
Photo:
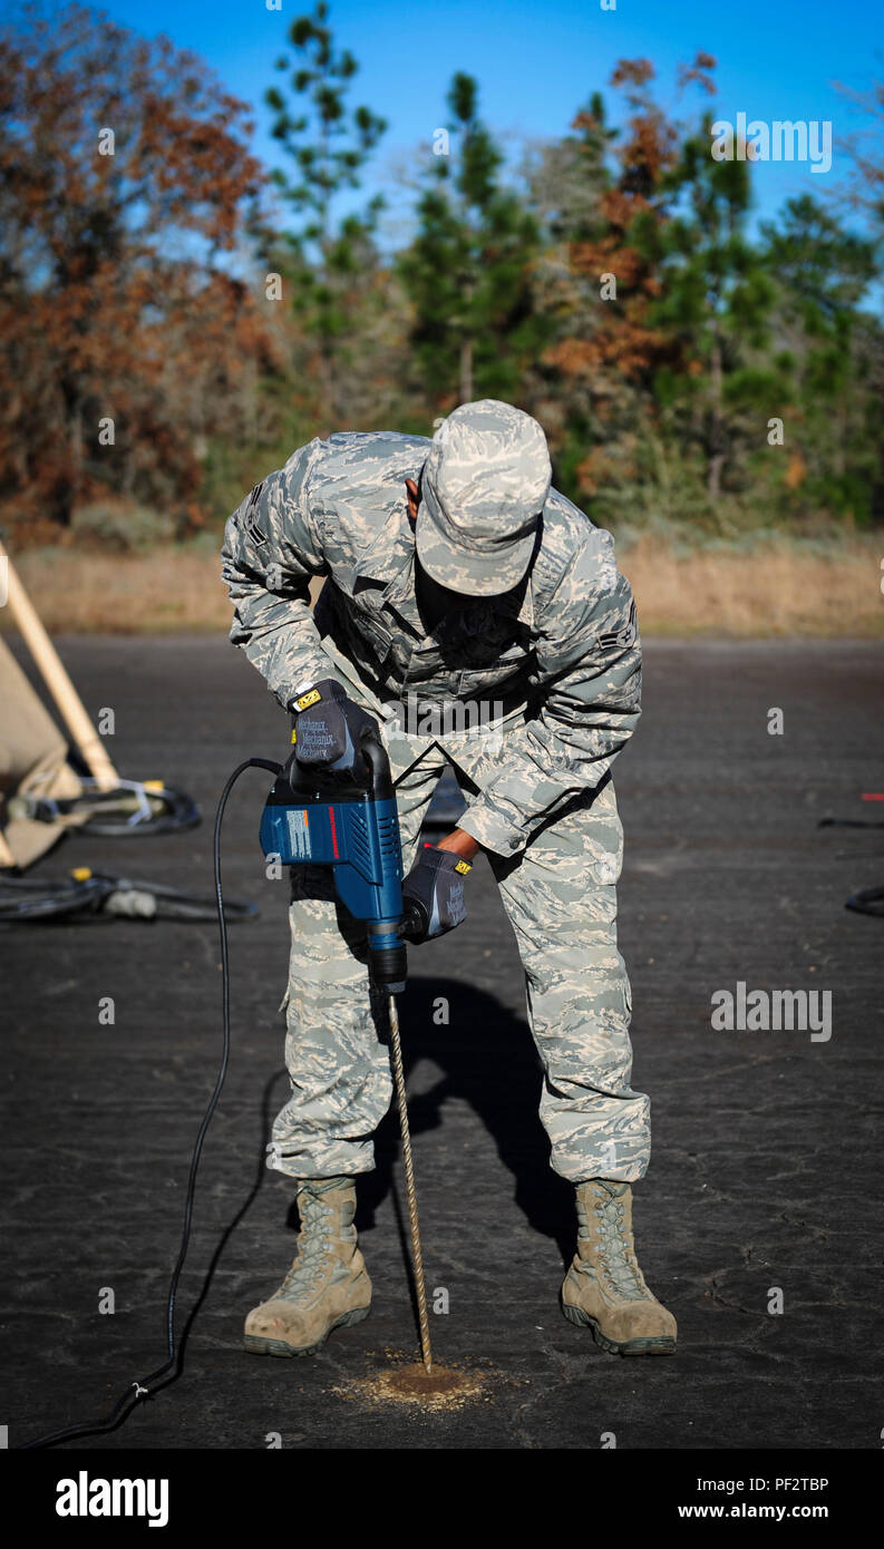
[(279, 1290), (246, 1318), (246, 1349), (255, 1355), (313, 1355), (331, 1329), (361, 1323), (372, 1306), (353, 1179), (307, 1179), (297, 1185), (297, 1256)]

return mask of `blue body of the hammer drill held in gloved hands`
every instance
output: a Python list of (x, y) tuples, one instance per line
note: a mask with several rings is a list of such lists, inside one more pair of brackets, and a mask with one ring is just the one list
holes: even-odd
[(406, 987), (403, 937), (403, 849), (387, 754), (364, 748), (365, 771), (333, 774), (299, 765), (293, 754), (262, 813), (260, 844), (283, 866), (331, 866), (334, 891), (368, 928), (373, 981)]

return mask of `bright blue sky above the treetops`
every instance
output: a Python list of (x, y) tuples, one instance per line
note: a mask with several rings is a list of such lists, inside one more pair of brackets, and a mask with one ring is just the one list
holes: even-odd
[[(418, 172), (416, 147), (444, 122), (444, 94), (457, 70), (478, 79), (483, 118), (512, 158), (525, 141), (567, 132), (576, 108), (591, 90), (605, 88), (624, 56), (649, 57), (663, 101), (675, 105), (677, 65), (703, 48), (718, 60), (715, 116), (735, 119), (745, 110), (768, 121), (831, 119), (836, 139), (856, 121), (834, 82), (865, 90), (875, 74), (884, 77), (882, 29), (869, 0), (616, 5), (602, 11), (599, 0), (331, 0), (336, 39), (361, 65), (353, 101), (364, 101), (390, 124), (365, 175), (365, 192), (381, 189), (404, 211), (396, 169)], [(282, 0), (282, 11), (268, 11), (265, 0), (107, 0), (101, 6), (139, 33), (163, 31), (200, 53), (254, 105), (255, 150), (268, 163), (277, 147), (262, 96), (276, 79), (274, 60), (291, 20), (310, 8), (308, 0)], [(60, 9), (60, 0), (46, 0), (46, 9)], [(616, 121), (616, 94), (605, 96)], [(757, 214), (774, 214), (794, 194), (821, 195), (845, 172), (839, 156), (828, 175), (797, 163), (760, 164), (754, 169)]]

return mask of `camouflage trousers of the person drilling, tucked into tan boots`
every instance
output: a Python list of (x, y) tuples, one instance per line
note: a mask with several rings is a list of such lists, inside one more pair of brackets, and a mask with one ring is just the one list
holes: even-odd
[[(339, 665), (334, 671), (341, 675)], [(396, 768), (407, 751), (395, 740), (389, 751), (409, 871), (446, 757), (455, 761), (451, 748), (430, 744)], [(463, 774), (457, 764), (455, 773)], [(613, 782), (593, 796), (540, 829), (522, 853), (486, 853), (525, 970), (551, 1165), (574, 1183), (635, 1182), (649, 1162), (650, 1103), (630, 1086), (632, 994), (616, 945), (622, 827)], [(367, 1173), (393, 1097), (385, 996), (368, 987), (365, 926), (334, 900), (330, 871), (296, 866), (291, 888), (283, 1001), (291, 1095), (272, 1126), (268, 1166), (299, 1179)], [(469, 881), (466, 897), (469, 911)], [(469, 929), (469, 914), (458, 929)], [(412, 960), (418, 951), (410, 948)]]

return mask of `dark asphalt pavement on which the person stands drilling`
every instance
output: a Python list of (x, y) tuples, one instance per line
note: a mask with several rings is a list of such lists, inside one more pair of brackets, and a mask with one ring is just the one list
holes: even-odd
[[(242, 757), (282, 754), (285, 716), (223, 638), (59, 646), (90, 713), (115, 709), (119, 771), (189, 790), (204, 821), (71, 836), (40, 872), (90, 864), (211, 897), (218, 792)], [(285, 1098), (285, 894), (257, 843), (266, 778), (243, 776), (224, 884), (260, 919), (231, 928), (234, 1052), (180, 1290), (183, 1372), (81, 1445), (879, 1448), (884, 922), (845, 900), (884, 883), (884, 844), (819, 821), (884, 818), (861, 799), (884, 788), (881, 682), (872, 643), (646, 643), (644, 716), (616, 764), (619, 939), (653, 1121), (636, 1242), (678, 1318), (673, 1358), (604, 1354), (559, 1310), (573, 1196), (548, 1165), (520, 965), (485, 861), (466, 925), (412, 953), (401, 1016), (432, 1337), (474, 1385), (460, 1406), (382, 1402), (384, 1374), (416, 1352), (395, 1115), (359, 1193), (372, 1317), (314, 1358), (242, 1349), (296, 1230), (291, 1182), (263, 1165)], [(6, 926), (0, 953), (14, 1447), (99, 1417), (164, 1358), (221, 977), (212, 925)], [(822, 1029), (717, 1030), (712, 998), (738, 984), (819, 991)]]

